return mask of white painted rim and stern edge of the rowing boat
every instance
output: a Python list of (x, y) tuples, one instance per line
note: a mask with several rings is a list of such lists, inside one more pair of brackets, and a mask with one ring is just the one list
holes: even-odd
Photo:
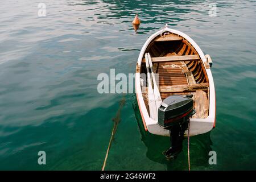
[[(196, 49), (197, 53), (199, 54), (201, 60), (203, 62), (206, 62), (205, 55), (203, 51), (201, 51), (200, 47), (197, 46), (197, 44), (186, 34), (183, 32), (173, 30), (171, 28), (165, 27), (162, 30), (159, 30), (155, 34), (151, 35), (150, 38), (147, 39), (146, 43), (144, 43), (141, 52), (139, 53), (138, 61), (137, 61), (137, 67), (141, 67), (142, 64), (142, 58), (146, 51), (146, 48), (150, 44), (150, 42), (158, 35), (162, 34), (162, 32), (171, 32), (177, 35), (182, 36), (184, 39), (188, 40), (189, 43)], [(205, 67), (205, 65), (204, 65)], [(215, 127), (215, 121), (216, 121), (216, 98), (215, 98), (215, 89), (214, 89), (214, 82), (212, 77), (212, 72), (209, 68), (205, 68), (207, 72), (207, 76), (209, 79), (209, 113), (208, 117), (201, 119), (201, 118), (191, 118), (190, 119), (190, 129), (189, 129), (189, 136), (199, 135), (207, 133), (208, 131), (212, 130), (213, 127)], [(170, 136), (169, 130), (164, 129), (163, 127), (158, 125), (158, 121), (151, 119), (148, 111), (146, 109), (146, 105), (143, 101), (142, 96), (142, 89), (141, 89), (141, 81), (140, 81), (140, 74), (139, 72), (135, 75), (135, 90), (137, 94), (137, 101), (139, 105), (139, 110), (142, 115), (142, 120), (144, 124), (144, 129), (152, 134), (155, 135), (163, 135), (163, 136)], [(188, 130), (185, 131), (185, 135), (188, 134)]]

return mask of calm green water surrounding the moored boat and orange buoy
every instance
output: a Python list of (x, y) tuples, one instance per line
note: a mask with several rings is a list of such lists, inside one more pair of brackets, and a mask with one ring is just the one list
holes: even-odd
[[(168, 162), (169, 139), (144, 133), (135, 94), (97, 92), (99, 73), (135, 72), (139, 50), (165, 23), (214, 62), (217, 125), (191, 138), (191, 168), (256, 169), (255, 1), (44, 0), (39, 18), (40, 2), (1, 2), (0, 169), (100, 170), (125, 97), (106, 169), (187, 170), (187, 139)], [(211, 150), (217, 165), (208, 164)]]

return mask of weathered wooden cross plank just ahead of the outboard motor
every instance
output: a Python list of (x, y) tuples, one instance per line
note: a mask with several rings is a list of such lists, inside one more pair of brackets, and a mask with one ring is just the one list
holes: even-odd
[(174, 85), (174, 86), (159, 86), (159, 90), (162, 93), (174, 93), (174, 92), (193, 92), (197, 89), (207, 90), (209, 84), (191, 84), (191, 85)]

